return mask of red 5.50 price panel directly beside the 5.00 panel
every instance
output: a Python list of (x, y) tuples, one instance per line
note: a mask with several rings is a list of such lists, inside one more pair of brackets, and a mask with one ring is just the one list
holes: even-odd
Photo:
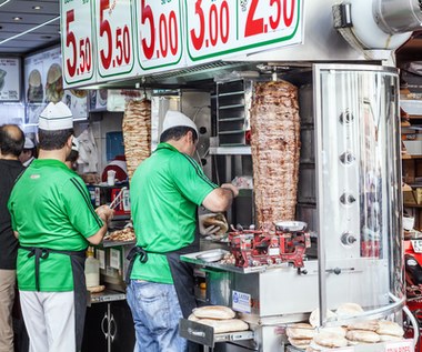
[(96, 1), (99, 81), (122, 78), (133, 68), (132, 12), (130, 1)]

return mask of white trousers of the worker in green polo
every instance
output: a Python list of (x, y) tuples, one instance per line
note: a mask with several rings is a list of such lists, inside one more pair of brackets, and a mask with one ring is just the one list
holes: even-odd
[(30, 352), (74, 352), (74, 298), (70, 292), (19, 291)]

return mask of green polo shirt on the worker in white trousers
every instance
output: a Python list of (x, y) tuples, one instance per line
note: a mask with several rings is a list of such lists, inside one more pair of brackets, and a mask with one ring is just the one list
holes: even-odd
[[(102, 227), (82, 179), (58, 160), (33, 160), (13, 187), (8, 208), (22, 247), (82, 251)], [(18, 286), (36, 291), (34, 257), (18, 251)], [(40, 291), (73, 290), (70, 257), (40, 260)]]

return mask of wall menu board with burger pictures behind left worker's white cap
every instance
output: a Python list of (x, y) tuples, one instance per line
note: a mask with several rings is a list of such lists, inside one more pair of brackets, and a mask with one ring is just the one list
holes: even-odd
[(49, 102), (64, 102), (74, 119), (88, 117), (87, 91), (64, 90), (60, 47), (24, 58), (26, 123), (37, 124)]

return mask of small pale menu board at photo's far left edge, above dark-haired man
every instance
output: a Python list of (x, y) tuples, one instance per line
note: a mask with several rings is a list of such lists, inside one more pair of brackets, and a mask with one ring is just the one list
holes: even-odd
[(20, 81), (20, 59), (0, 58), (0, 101), (19, 101)]

